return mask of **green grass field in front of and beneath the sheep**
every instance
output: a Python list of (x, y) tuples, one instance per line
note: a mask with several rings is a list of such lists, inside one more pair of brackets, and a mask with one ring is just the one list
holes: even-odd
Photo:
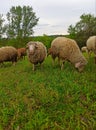
[(27, 58), (0, 68), (0, 130), (95, 130), (96, 65), (64, 70), (49, 56), (36, 71)]

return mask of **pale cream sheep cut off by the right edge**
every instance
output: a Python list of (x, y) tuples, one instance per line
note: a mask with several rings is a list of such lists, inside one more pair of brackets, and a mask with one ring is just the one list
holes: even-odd
[(90, 57), (91, 52), (94, 53), (94, 59), (95, 59), (95, 64), (96, 64), (96, 36), (91, 36), (87, 39), (86, 41), (86, 46), (88, 49), (88, 54)]

